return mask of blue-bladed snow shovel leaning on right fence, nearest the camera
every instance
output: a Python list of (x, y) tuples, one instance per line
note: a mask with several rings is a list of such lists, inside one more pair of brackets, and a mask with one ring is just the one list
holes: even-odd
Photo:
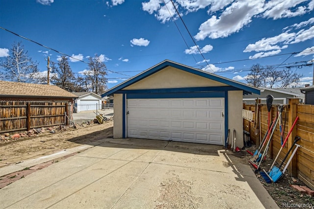
[[(260, 174), (262, 175), (262, 177), (264, 178), (264, 180), (265, 180), (266, 183), (271, 183), (271, 182), (276, 183), (278, 180), (280, 180), (280, 179), (282, 178), (282, 176), (284, 175), (285, 171), (286, 171), (287, 168), (288, 168), (288, 164), (291, 162), (291, 160), (292, 160), (294, 154), (296, 153), (298, 147), (300, 146), (299, 144), (296, 144), (296, 142), (297, 142), (298, 140), (300, 140), (300, 139), (301, 139), (301, 138), (298, 137), (298, 136), (296, 136), (296, 137), (294, 138), (294, 141), (293, 141), (293, 143), (292, 143), (292, 146), (291, 146), (290, 149), (288, 150), (288, 152), (287, 152), (285, 158), (284, 158), (283, 161), (280, 163), (279, 167), (273, 166), (272, 169), (270, 170), (270, 172), (268, 172), (268, 173), (265, 172), (265, 171), (260, 172)], [(281, 172), (280, 168), (281, 168), (281, 166), (285, 163), (286, 159), (288, 158), (289, 153), (291, 152), (291, 150), (292, 150), (292, 148), (293, 148), (293, 146), (294, 146), (295, 144), (296, 144), (296, 147), (295, 147), (293, 153), (291, 154), (291, 156), (290, 156), (290, 158), (289, 158), (289, 160), (288, 160), (288, 162), (287, 162), (287, 164), (286, 164), (286, 166), (285, 166), (285, 168), (284, 168), (284, 171)]]

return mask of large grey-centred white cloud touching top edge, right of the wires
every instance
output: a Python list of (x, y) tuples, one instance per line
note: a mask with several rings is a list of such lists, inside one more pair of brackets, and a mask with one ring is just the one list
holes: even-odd
[(263, 11), (263, 0), (235, 1), (225, 8), (218, 18), (213, 15), (199, 27), (196, 40), (225, 38), (238, 32), (252, 21), (252, 17)]

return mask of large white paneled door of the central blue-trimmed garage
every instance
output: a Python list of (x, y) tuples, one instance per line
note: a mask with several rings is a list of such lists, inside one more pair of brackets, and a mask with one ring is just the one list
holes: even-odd
[(127, 135), (223, 145), (224, 98), (128, 99)]

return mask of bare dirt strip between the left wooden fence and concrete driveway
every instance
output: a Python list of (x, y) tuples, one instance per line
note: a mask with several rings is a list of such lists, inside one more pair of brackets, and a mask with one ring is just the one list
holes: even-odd
[(34, 137), (0, 140), (0, 167), (113, 136), (113, 121), (76, 127), (53, 129), (55, 133), (50, 133), (47, 129), (45, 133)]

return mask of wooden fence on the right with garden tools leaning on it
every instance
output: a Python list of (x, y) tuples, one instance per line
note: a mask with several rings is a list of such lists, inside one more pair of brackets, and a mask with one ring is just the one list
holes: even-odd
[[(291, 135), (289, 136), (288, 141), (286, 142), (286, 145), (283, 148), (279, 159), (277, 160), (277, 163), (282, 162), (282, 159), (287, 154), (295, 136), (299, 136), (301, 139), (297, 142), (297, 144), (301, 145), (301, 147), (299, 147), (297, 154), (289, 164), (288, 173), (292, 177), (298, 177), (307, 186), (314, 189), (314, 105), (304, 105), (298, 103), (299, 100), (293, 98), (289, 99), (289, 104), (284, 105), (282, 112), (282, 129), (284, 130), (283, 140), (285, 140), (287, 137), (295, 118), (298, 116), (299, 119), (292, 129)], [(278, 105), (272, 105), (270, 111), (270, 121), (273, 121), (277, 116), (277, 108)], [(268, 128), (267, 106), (266, 104), (243, 104), (243, 109), (254, 112), (254, 120), (249, 121), (247, 119), (243, 119), (243, 127), (245, 131), (250, 133), (251, 140), (259, 145)], [(278, 123), (270, 143), (268, 156), (271, 159), (274, 159), (274, 157), (278, 154), (280, 147), (281, 136), (280, 124)]]

